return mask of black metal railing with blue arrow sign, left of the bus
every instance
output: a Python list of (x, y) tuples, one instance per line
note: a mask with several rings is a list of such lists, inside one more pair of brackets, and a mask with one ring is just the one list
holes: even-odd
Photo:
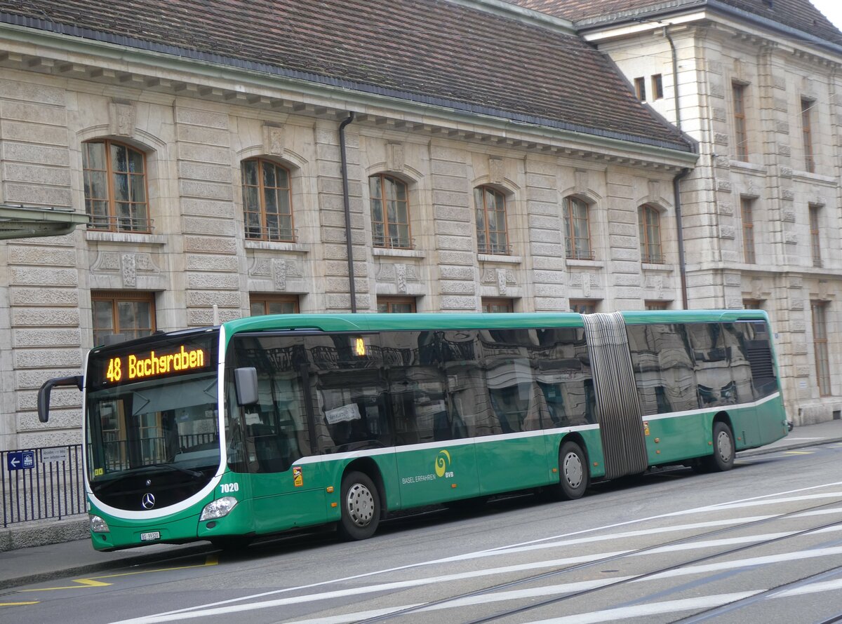
[(3, 526), (86, 513), (82, 445), (0, 451)]

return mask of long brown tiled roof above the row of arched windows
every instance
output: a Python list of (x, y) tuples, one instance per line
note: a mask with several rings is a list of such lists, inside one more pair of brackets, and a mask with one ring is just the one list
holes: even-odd
[(578, 36), (446, 0), (0, 0), (0, 22), (690, 151)]

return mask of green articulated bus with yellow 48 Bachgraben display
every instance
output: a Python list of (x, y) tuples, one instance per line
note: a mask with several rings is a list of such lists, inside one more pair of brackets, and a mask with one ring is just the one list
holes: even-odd
[(83, 391), (93, 546), (222, 546), (734, 453), (786, 436), (758, 310), (269, 315), (99, 346)]

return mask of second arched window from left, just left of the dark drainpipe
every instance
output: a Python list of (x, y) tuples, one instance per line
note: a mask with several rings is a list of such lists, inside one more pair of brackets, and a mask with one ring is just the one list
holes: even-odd
[(295, 242), (289, 170), (263, 158), (242, 161), (242, 212), (246, 238)]

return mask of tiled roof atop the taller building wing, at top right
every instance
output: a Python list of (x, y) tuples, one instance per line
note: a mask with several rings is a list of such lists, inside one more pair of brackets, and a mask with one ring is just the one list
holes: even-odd
[(723, 4), (842, 45), (842, 32), (809, 0), (507, 0), (524, 8), (578, 22), (642, 8), (685, 8)]

